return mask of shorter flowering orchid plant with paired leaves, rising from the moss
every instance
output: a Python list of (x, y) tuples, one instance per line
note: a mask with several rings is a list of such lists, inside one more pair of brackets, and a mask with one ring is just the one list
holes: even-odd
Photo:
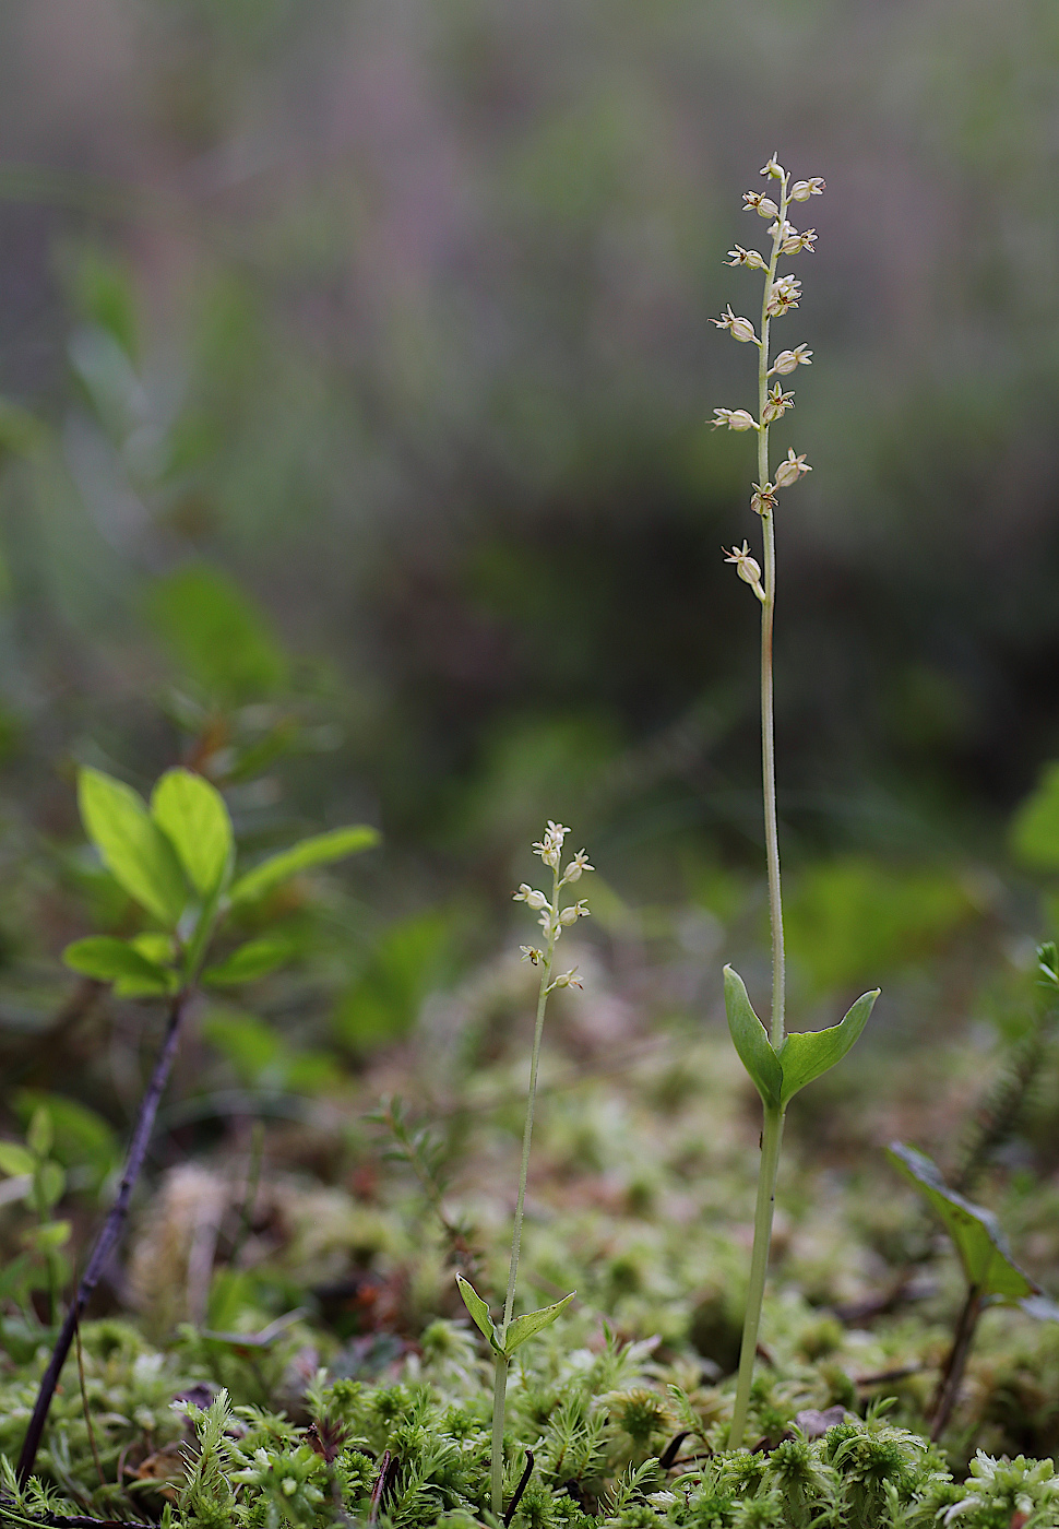
[(460, 1286), (460, 1295), (463, 1297), (474, 1323), (489, 1339), (489, 1347), (492, 1349), (497, 1361), (492, 1411), (492, 1511), (497, 1518), (503, 1515), (504, 1506), (504, 1410), (510, 1356), (526, 1342), (527, 1338), (532, 1338), (544, 1327), (549, 1327), (576, 1295), (576, 1290), (572, 1290), (570, 1295), (564, 1295), (562, 1300), (556, 1301), (553, 1306), (544, 1306), (536, 1312), (526, 1312), (523, 1316), (513, 1315), (515, 1287), (518, 1283), (518, 1260), (523, 1249), (526, 1180), (529, 1176), (530, 1141), (533, 1136), (533, 1107), (536, 1102), (536, 1072), (541, 1060), (541, 1038), (544, 1035), (544, 1011), (547, 1008), (549, 995), (558, 988), (581, 986), (576, 966), (572, 971), (555, 974), (555, 946), (564, 930), (588, 916), (588, 904), (584, 902), (584, 899), (578, 899), (576, 902), (562, 907), (561, 893), (564, 887), (570, 887), (573, 882), (581, 881), (585, 872), (594, 870), (594, 867), (588, 864), (588, 855), (585, 850), (578, 850), (565, 868), (561, 870), (562, 842), (568, 832), (570, 830), (564, 829), (561, 823), (549, 821), (544, 836), (533, 846), (533, 853), (539, 855), (552, 872), (550, 894), (535, 891), (527, 882), (523, 882), (515, 893), (515, 902), (526, 902), (535, 913), (539, 914), (538, 922), (544, 937), (541, 945), (521, 946), (523, 960), (527, 960), (530, 965), (539, 968), (541, 980), (536, 992), (536, 1026), (533, 1029), (533, 1050), (530, 1053), (529, 1095), (526, 1101), (526, 1125), (523, 1130), (523, 1164), (518, 1176), (515, 1226), (512, 1231), (510, 1261), (507, 1266), (507, 1294), (504, 1297), (504, 1315), (500, 1323), (494, 1323), (489, 1306), (481, 1300), (471, 1281), (465, 1280), (461, 1274), (457, 1274), (455, 1277), (457, 1284)]

